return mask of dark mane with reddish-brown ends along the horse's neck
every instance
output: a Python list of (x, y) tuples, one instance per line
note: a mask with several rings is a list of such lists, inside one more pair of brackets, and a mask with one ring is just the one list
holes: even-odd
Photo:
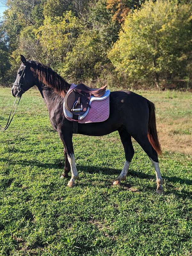
[(70, 84), (68, 84), (50, 67), (44, 66), (43, 64), (33, 60), (30, 60), (29, 63), (31, 71), (40, 82), (53, 89), (53, 91), (61, 97), (65, 97), (68, 89), (70, 88)]

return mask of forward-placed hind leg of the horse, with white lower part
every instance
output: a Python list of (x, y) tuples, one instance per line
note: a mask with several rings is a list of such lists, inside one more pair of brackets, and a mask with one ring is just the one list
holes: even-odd
[(131, 163), (132, 157), (134, 155), (134, 149), (131, 141), (131, 135), (126, 130), (119, 130), (119, 135), (121, 137), (121, 142), (124, 146), (125, 151), (125, 164), (120, 175), (113, 181), (113, 185), (120, 185), (121, 181), (124, 181), (129, 170), (129, 165)]

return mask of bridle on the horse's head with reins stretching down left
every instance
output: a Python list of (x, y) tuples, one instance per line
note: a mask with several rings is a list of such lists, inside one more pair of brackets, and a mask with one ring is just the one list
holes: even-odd
[[(7, 124), (5, 125), (4, 128), (0, 125), (0, 131), (5, 131), (5, 130), (10, 126), (11, 121), (12, 121), (14, 115), (15, 115), (15, 112), (16, 112), (16, 110), (17, 110), (17, 107), (18, 107), (19, 102), (20, 102), (20, 99), (21, 99), (21, 96), (20, 96), (19, 101), (18, 101), (18, 103), (17, 103), (17, 106), (16, 106), (16, 108), (15, 108), (15, 110), (14, 110), (14, 112), (13, 112), (12, 118), (11, 118), (12, 110), (13, 110), (13, 108), (14, 108), (14, 106), (15, 106), (15, 103), (16, 103), (16, 101), (17, 101), (18, 95), (19, 95), (20, 91), (22, 91), (23, 93), (25, 93), (25, 90), (23, 90), (23, 88), (21, 87), (21, 85), (23, 85), (22, 82), (23, 82), (23, 77), (24, 77), (24, 75), (25, 75), (26, 66), (25, 66), (24, 64), (21, 64), (21, 66), (24, 66), (24, 69), (23, 69), (22, 74), (21, 74), (21, 76), (20, 76), (19, 82), (18, 82), (18, 84), (14, 84), (14, 83), (13, 83), (14, 86), (17, 86), (17, 87), (18, 87), (18, 92), (17, 92), (17, 95), (16, 95), (16, 99), (15, 99), (15, 102), (14, 102), (14, 104), (13, 104), (13, 106), (12, 106), (11, 112), (10, 112), (10, 114), (9, 114), (9, 118), (8, 118)], [(10, 120), (10, 118), (11, 118), (11, 120)], [(9, 120), (10, 120), (10, 121), (9, 121)]]

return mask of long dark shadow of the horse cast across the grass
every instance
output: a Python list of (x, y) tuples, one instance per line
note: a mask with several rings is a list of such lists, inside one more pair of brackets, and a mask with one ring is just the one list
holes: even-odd
[[(0, 158), (0, 161), (3, 162), (8, 162), (9, 165), (15, 165), (15, 164), (19, 164), (22, 166), (36, 166), (38, 168), (45, 168), (45, 169), (60, 169), (60, 172), (62, 172), (62, 169), (64, 167), (64, 162), (62, 160), (57, 161), (55, 163), (43, 163), (40, 161), (34, 161), (34, 160), (21, 160), (21, 159), (17, 159), (17, 160), (8, 160), (5, 158)], [(77, 164), (77, 170), (80, 172), (87, 172), (90, 174), (93, 173), (100, 173), (103, 175), (119, 175), (121, 172), (121, 169), (116, 169), (116, 168), (108, 168), (108, 167), (98, 167), (98, 166), (90, 166), (90, 165), (78, 165)], [(59, 173), (60, 174), (60, 173)], [(135, 171), (130, 169), (128, 172), (128, 176), (131, 177), (137, 177), (139, 179), (154, 179), (155, 180), (155, 173), (154, 175), (151, 174), (146, 174), (144, 172), (140, 172)], [(163, 179), (164, 181), (166, 181), (166, 194), (175, 194), (177, 197), (179, 198), (190, 198), (192, 199), (192, 194), (186, 190), (177, 190), (177, 188), (174, 188), (174, 185), (170, 184), (171, 183), (180, 183), (180, 184), (187, 184), (187, 185), (192, 185), (192, 180), (189, 179), (183, 179), (183, 178), (179, 178), (176, 176), (172, 176), (172, 177), (168, 177), (168, 176), (164, 176), (163, 175)], [(108, 181), (108, 179), (103, 179), (102, 181), (104, 181), (105, 183)], [(107, 182), (108, 183), (108, 182)], [(83, 184), (81, 184), (83, 186)], [(91, 185), (91, 183), (90, 183)], [(124, 184), (126, 187), (126, 184)], [(149, 188), (150, 189), (150, 188)]]

